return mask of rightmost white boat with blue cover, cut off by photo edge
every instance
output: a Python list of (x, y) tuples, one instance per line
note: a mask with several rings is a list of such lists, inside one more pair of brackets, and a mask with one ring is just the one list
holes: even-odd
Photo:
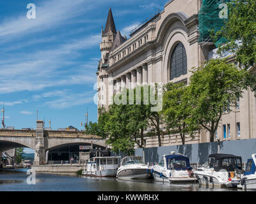
[(252, 154), (252, 159), (248, 159), (244, 175), (241, 179), (243, 189), (256, 189), (256, 154)]

